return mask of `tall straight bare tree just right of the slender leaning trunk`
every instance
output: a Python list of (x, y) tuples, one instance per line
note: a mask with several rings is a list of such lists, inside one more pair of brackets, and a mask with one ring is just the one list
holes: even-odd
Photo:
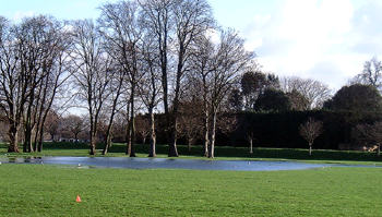
[[(109, 47), (108, 49), (117, 64), (122, 71), (122, 76), (126, 76), (130, 85), (130, 99), (128, 109), (129, 124), (128, 124), (128, 144), (127, 155), (135, 157), (135, 98), (138, 92), (138, 84), (142, 76), (140, 60), (142, 59), (141, 44), (143, 31), (141, 27), (140, 5), (133, 1), (121, 1), (115, 4), (105, 4), (103, 9), (103, 16), (99, 20), (104, 35), (106, 36)], [(120, 76), (120, 77), (122, 77)], [(121, 83), (120, 83), (121, 84)]]

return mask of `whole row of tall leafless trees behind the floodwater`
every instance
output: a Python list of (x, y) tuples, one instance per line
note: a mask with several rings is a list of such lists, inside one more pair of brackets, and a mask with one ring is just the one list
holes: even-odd
[[(135, 114), (144, 110), (154, 157), (154, 113), (163, 110), (168, 155), (178, 156), (180, 107), (193, 82), (203, 87), (200, 100), (206, 150), (210, 147), (205, 155), (214, 157), (217, 113), (253, 58), (243, 40), (235, 31), (216, 27), (206, 0), (120, 1), (104, 4), (100, 11), (97, 22), (0, 20), (0, 106), (10, 125), (9, 152), (19, 152), (21, 130), (23, 150), (40, 150), (53, 100), (63, 105), (65, 96), (87, 110), (91, 155), (97, 142), (105, 142), (107, 154), (119, 113), (127, 123), (127, 154), (135, 156)], [(105, 141), (97, 136), (100, 128), (106, 129)]]

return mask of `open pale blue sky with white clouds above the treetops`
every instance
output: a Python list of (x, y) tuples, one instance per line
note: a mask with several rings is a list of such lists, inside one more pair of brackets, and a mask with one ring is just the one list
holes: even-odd
[[(111, 0), (114, 2), (116, 0)], [(320, 80), (333, 89), (382, 51), (381, 0), (208, 0), (238, 29), (266, 72)], [(0, 0), (0, 15), (96, 19), (107, 0)]]

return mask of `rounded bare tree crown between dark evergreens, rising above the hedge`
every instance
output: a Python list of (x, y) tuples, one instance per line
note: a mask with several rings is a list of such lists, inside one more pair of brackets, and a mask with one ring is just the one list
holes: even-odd
[(327, 85), (315, 80), (297, 76), (284, 77), (282, 80), (282, 89), (285, 93), (300, 93), (308, 100), (306, 109), (321, 108), (332, 96), (332, 91)]

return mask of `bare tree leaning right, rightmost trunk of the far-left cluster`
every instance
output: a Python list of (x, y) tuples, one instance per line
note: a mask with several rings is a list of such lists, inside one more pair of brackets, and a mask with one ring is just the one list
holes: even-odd
[(43, 150), (43, 141), (45, 132), (45, 122), (51, 107), (57, 100), (57, 96), (62, 96), (62, 91), (70, 79), (70, 56), (68, 53), (71, 46), (71, 35), (64, 29), (64, 24), (52, 19), (43, 17), (49, 32), (46, 34), (45, 57), (41, 59), (41, 71), (45, 79), (40, 81), (38, 87), (38, 100), (35, 108), (34, 124), (35, 130), (35, 149)]

